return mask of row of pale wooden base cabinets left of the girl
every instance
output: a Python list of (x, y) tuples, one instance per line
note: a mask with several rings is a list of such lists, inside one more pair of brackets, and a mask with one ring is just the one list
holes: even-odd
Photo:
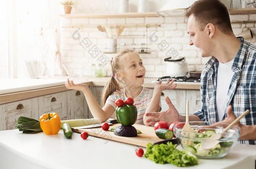
[(0, 130), (14, 129), (19, 116), (39, 119), (50, 112), (59, 114), (61, 120), (87, 119), (88, 104), (84, 93), (70, 90), (0, 105)]

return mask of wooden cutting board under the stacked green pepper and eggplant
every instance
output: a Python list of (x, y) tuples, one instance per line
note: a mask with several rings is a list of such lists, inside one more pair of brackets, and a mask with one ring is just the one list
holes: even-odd
[[(120, 126), (121, 124), (114, 124), (110, 126), (110, 129), (114, 126)], [(133, 144), (136, 146), (146, 147), (146, 145), (151, 142), (154, 144), (158, 141), (163, 141), (164, 139), (160, 139), (157, 137), (154, 131), (154, 127), (144, 126), (141, 124), (133, 124), (133, 126), (141, 131), (141, 134), (138, 134), (137, 137), (121, 137), (116, 136), (113, 131), (104, 131), (102, 128), (94, 128), (94, 129), (73, 129), (76, 133), (82, 133), (86, 131), (90, 136), (96, 136), (104, 139), (109, 139), (113, 141), (119, 141), (122, 143)]]

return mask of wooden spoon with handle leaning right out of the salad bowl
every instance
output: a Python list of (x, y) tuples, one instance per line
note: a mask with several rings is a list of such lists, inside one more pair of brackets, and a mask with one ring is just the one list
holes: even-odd
[(235, 119), (231, 124), (229, 124), (220, 134), (214, 134), (209, 138), (205, 138), (206, 141), (202, 141), (202, 148), (203, 149), (212, 149), (217, 144), (219, 144), (219, 140), (222, 137), (222, 134), (227, 132), (232, 126), (237, 124), (237, 122), (242, 119), (246, 114), (248, 114), (250, 111), (246, 110), (243, 114), (241, 114), (237, 119)]

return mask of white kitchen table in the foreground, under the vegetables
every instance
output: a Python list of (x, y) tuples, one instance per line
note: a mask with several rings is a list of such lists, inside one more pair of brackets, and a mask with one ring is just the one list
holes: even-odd
[[(103, 132), (103, 131), (102, 131)], [(0, 131), (0, 169), (170, 169), (135, 154), (136, 146), (73, 133), (22, 134), (18, 129)], [(181, 147), (178, 146), (181, 149)], [(144, 149), (145, 151), (146, 149)], [(255, 169), (256, 146), (236, 144), (221, 159), (199, 159), (191, 169)]]

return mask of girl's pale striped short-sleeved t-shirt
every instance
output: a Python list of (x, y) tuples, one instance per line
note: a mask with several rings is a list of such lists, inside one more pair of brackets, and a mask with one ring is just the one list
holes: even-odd
[[(138, 111), (137, 121), (135, 122), (136, 124), (144, 124), (143, 116), (146, 112), (146, 108), (149, 106), (152, 96), (153, 96), (152, 89), (142, 88), (141, 93), (136, 98), (133, 99), (134, 100), (133, 105), (136, 106), (137, 111)], [(106, 104), (110, 104), (111, 106), (116, 108), (115, 101), (119, 98), (122, 100), (125, 100), (127, 98), (125, 96), (124, 90), (115, 91), (110, 96), (108, 96)], [(161, 107), (161, 101), (159, 102), (159, 106)]]

